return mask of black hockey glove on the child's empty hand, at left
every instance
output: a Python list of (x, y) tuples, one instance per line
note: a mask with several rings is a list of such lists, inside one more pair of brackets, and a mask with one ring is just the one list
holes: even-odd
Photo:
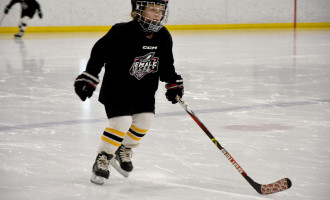
[(85, 101), (87, 97), (90, 98), (93, 95), (93, 92), (99, 82), (100, 80), (98, 77), (90, 75), (87, 72), (83, 72), (74, 81), (74, 89), (80, 99)]

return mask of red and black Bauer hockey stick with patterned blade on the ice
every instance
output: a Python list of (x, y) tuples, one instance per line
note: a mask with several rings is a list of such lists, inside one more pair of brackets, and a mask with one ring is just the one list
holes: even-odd
[(236, 170), (250, 183), (250, 185), (259, 193), (259, 194), (273, 194), (280, 192), (286, 189), (289, 189), (292, 185), (289, 178), (283, 178), (274, 183), (262, 185), (257, 182), (254, 182), (243, 170), (243, 168), (236, 162), (236, 160), (229, 154), (229, 152), (221, 146), (221, 144), (214, 138), (211, 132), (206, 128), (206, 126), (198, 119), (195, 113), (188, 108), (188, 105), (182, 101), (182, 99), (177, 96), (176, 100), (181, 104), (183, 109), (193, 118), (193, 120), (201, 127), (201, 129), (206, 133), (206, 135), (212, 140), (215, 146), (223, 153), (223, 155), (229, 160), (229, 162), (236, 168)]

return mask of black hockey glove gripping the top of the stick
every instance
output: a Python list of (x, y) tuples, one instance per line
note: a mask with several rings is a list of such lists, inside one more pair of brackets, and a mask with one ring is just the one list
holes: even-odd
[(183, 79), (180, 75), (177, 75), (176, 80), (167, 83), (165, 88), (167, 89), (165, 93), (167, 100), (171, 101), (172, 104), (176, 104), (178, 103), (176, 96), (178, 95), (180, 98), (183, 96)]

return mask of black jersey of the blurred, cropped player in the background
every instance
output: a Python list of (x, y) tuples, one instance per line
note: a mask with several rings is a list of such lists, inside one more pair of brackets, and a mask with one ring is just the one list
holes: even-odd
[(7, 8), (10, 9), (16, 3), (21, 4), (22, 7), (21, 17), (28, 16), (32, 18), (36, 10), (38, 10), (39, 12), (41, 11), (39, 3), (35, 0), (12, 0), (7, 5)]

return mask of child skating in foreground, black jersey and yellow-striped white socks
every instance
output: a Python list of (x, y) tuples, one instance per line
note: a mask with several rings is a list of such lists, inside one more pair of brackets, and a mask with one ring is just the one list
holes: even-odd
[(167, 83), (166, 97), (173, 104), (183, 95), (183, 80), (173, 65), (172, 38), (163, 26), (167, 10), (168, 0), (132, 0), (133, 20), (115, 24), (96, 42), (86, 70), (75, 80), (75, 91), (85, 101), (105, 67), (99, 101), (109, 126), (101, 136), (93, 183), (108, 179), (109, 164), (126, 177), (133, 170), (132, 148), (153, 121), (159, 80)]

